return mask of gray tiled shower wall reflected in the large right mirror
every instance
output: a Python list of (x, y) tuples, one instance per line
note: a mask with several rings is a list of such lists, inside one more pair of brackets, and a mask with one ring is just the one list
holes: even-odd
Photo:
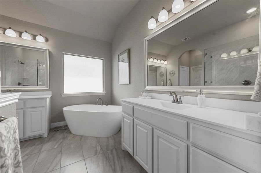
[[(258, 53), (240, 56), (243, 48), (258, 46), (258, 41), (245, 43), (239, 46), (233, 46), (222, 50), (213, 51), (212, 58), (212, 82), (213, 85), (242, 85), (244, 80), (250, 80), (251, 85), (255, 84), (255, 78), (258, 70)], [(222, 53), (236, 51), (238, 57), (223, 59)], [(252, 52), (253, 53), (253, 52)], [(206, 71), (206, 75), (207, 75)]]

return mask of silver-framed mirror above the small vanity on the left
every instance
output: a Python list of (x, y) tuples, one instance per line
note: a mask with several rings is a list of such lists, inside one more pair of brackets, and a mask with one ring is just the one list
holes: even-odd
[(1, 90), (49, 89), (48, 49), (0, 42)]

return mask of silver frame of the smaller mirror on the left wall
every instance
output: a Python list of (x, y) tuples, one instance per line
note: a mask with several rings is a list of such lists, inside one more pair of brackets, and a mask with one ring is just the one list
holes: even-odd
[[(25, 48), (25, 49), (31, 49), (31, 50), (38, 50), (44, 52), (44, 59), (45, 59), (45, 67), (46, 67), (46, 84), (45, 86), (1, 86), (1, 90), (49, 90), (49, 49), (46, 48), (40, 48), (40, 47), (33, 47), (33, 46), (25, 46), (21, 44), (15, 44), (15, 43), (7, 43), (7, 42), (0, 42), (0, 45), (2, 46), (11, 46), (15, 48)], [(1, 63), (1, 62), (0, 62)]]

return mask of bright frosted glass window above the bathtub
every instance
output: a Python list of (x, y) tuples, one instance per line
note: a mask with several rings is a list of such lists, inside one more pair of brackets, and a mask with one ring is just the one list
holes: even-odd
[(102, 58), (63, 54), (64, 93), (103, 92)]

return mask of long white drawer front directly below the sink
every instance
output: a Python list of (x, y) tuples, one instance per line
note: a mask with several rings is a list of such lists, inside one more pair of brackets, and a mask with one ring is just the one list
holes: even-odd
[(140, 108), (134, 108), (134, 116), (181, 138), (187, 139), (187, 121), (156, 114)]

